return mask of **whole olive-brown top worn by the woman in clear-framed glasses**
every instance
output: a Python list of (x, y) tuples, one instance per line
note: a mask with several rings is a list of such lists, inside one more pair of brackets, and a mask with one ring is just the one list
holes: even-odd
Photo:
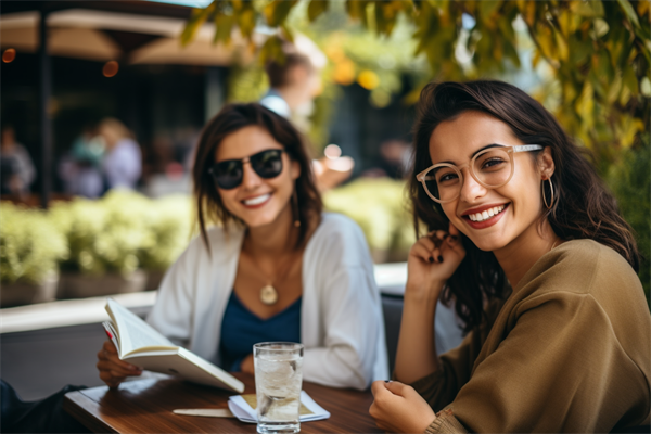
[(638, 277), (615, 251), (565, 242), (493, 310), (494, 321), (412, 384), (443, 409), (427, 433), (609, 433), (651, 424), (651, 315)]

